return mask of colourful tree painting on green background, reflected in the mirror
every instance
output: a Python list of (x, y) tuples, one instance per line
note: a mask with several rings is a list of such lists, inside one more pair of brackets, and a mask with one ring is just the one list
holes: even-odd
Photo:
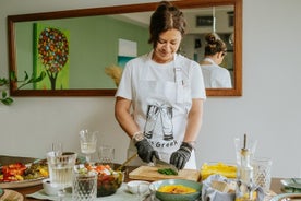
[(55, 27), (36, 24), (35, 72), (45, 71), (49, 80), (37, 83), (37, 90), (69, 87), (69, 35)]

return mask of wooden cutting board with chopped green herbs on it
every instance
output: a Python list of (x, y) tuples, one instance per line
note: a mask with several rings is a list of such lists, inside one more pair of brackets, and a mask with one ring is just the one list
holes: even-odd
[(139, 180), (161, 180), (161, 179), (189, 179), (198, 181), (201, 178), (200, 170), (196, 169), (182, 169), (178, 175), (162, 175), (158, 173), (158, 167), (154, 166), (140, 166), (129, 174), (130, 179)]

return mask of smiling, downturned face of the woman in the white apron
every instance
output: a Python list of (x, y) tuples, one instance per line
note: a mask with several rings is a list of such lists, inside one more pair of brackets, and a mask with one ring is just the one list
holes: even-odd
[(157, 46), (154, 49), (153, 60), (166, 63), (173, 59), (173, 54), (179, 49), (182, 35), (178, 29), (169, 29), (159, 35)]

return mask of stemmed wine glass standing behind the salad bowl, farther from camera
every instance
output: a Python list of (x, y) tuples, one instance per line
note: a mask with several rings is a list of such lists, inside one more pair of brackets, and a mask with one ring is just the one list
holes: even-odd
[(81, 151), (86, 155), (86, 162), (91, 162), (91, 155), (96, 152), (98, 131), (81, 130)]

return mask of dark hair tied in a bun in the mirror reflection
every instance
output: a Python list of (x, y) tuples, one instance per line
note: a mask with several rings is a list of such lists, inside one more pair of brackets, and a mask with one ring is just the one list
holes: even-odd
[(205, 46), (205, 56), (213, 56), (220, 51), (226, 54), (227, 46), (217, 34), (209, 33), (205, 36), (205, 39), (207, 42)]

